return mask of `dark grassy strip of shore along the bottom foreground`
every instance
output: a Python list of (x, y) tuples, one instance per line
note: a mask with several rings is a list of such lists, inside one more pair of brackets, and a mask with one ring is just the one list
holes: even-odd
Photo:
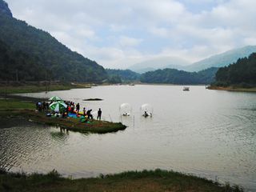
[(57, 171), (49, 174), (0, 173), (0, 191), (184, 191), (242, 192), (238, 186), (221, 186), (204, 178), (166, 170), (129, 171), (98, 178), (62, 178)]

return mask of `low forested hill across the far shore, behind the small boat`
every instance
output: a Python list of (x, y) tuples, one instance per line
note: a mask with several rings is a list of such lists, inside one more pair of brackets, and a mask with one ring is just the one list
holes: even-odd
[(184, 70), (164, 69), (146, 72), (141, 76), (141, 82), (171, 83), (171, 84), (210, 84), (214, 82), (217, 67), (211, 67), (199, 72), (186, 72)]

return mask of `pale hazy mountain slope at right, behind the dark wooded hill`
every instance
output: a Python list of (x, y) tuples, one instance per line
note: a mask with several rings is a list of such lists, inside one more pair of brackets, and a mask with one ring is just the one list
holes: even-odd
[(238, 58), (248, 57), (250, 54), (256, 52), (256, 46), (244, 46), (239, 49), (229, 50), (222, 54), (216, 54), (210, 58), (203, 59), (199, 62), (194, 62), (189, 66), (185, 66), (183, 70), (186, 71), (199, 71), (205, 70), (212, 66), (222, 67), (228, 66), (231, 63), (234, 63)]

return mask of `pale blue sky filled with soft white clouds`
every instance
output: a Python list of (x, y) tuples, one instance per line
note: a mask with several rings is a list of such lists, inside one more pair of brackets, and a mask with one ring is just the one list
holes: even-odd
[(6, 0), (14, 18), (46, 30), (105, 68), (152, 58), (197, 62), (256, 45), (255, 0)]

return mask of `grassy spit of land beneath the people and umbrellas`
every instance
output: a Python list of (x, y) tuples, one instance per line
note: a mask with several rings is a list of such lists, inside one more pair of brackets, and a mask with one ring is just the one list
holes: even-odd
[(35, 112), (35, 104), (32, 102), (17, 99), (0, 100), (1, 118), (26, 118), (34, 122), (43, 123), (49, 126), (60, 126), (66, 130), (78, 131), (82, 133), (106, 134), (125, 130), (126, 126), (121, 122), (106, 122), (90, 120), (90, 122), (79, 122), (78, 118), (51, 118), (46, 117), (43, 112)]

